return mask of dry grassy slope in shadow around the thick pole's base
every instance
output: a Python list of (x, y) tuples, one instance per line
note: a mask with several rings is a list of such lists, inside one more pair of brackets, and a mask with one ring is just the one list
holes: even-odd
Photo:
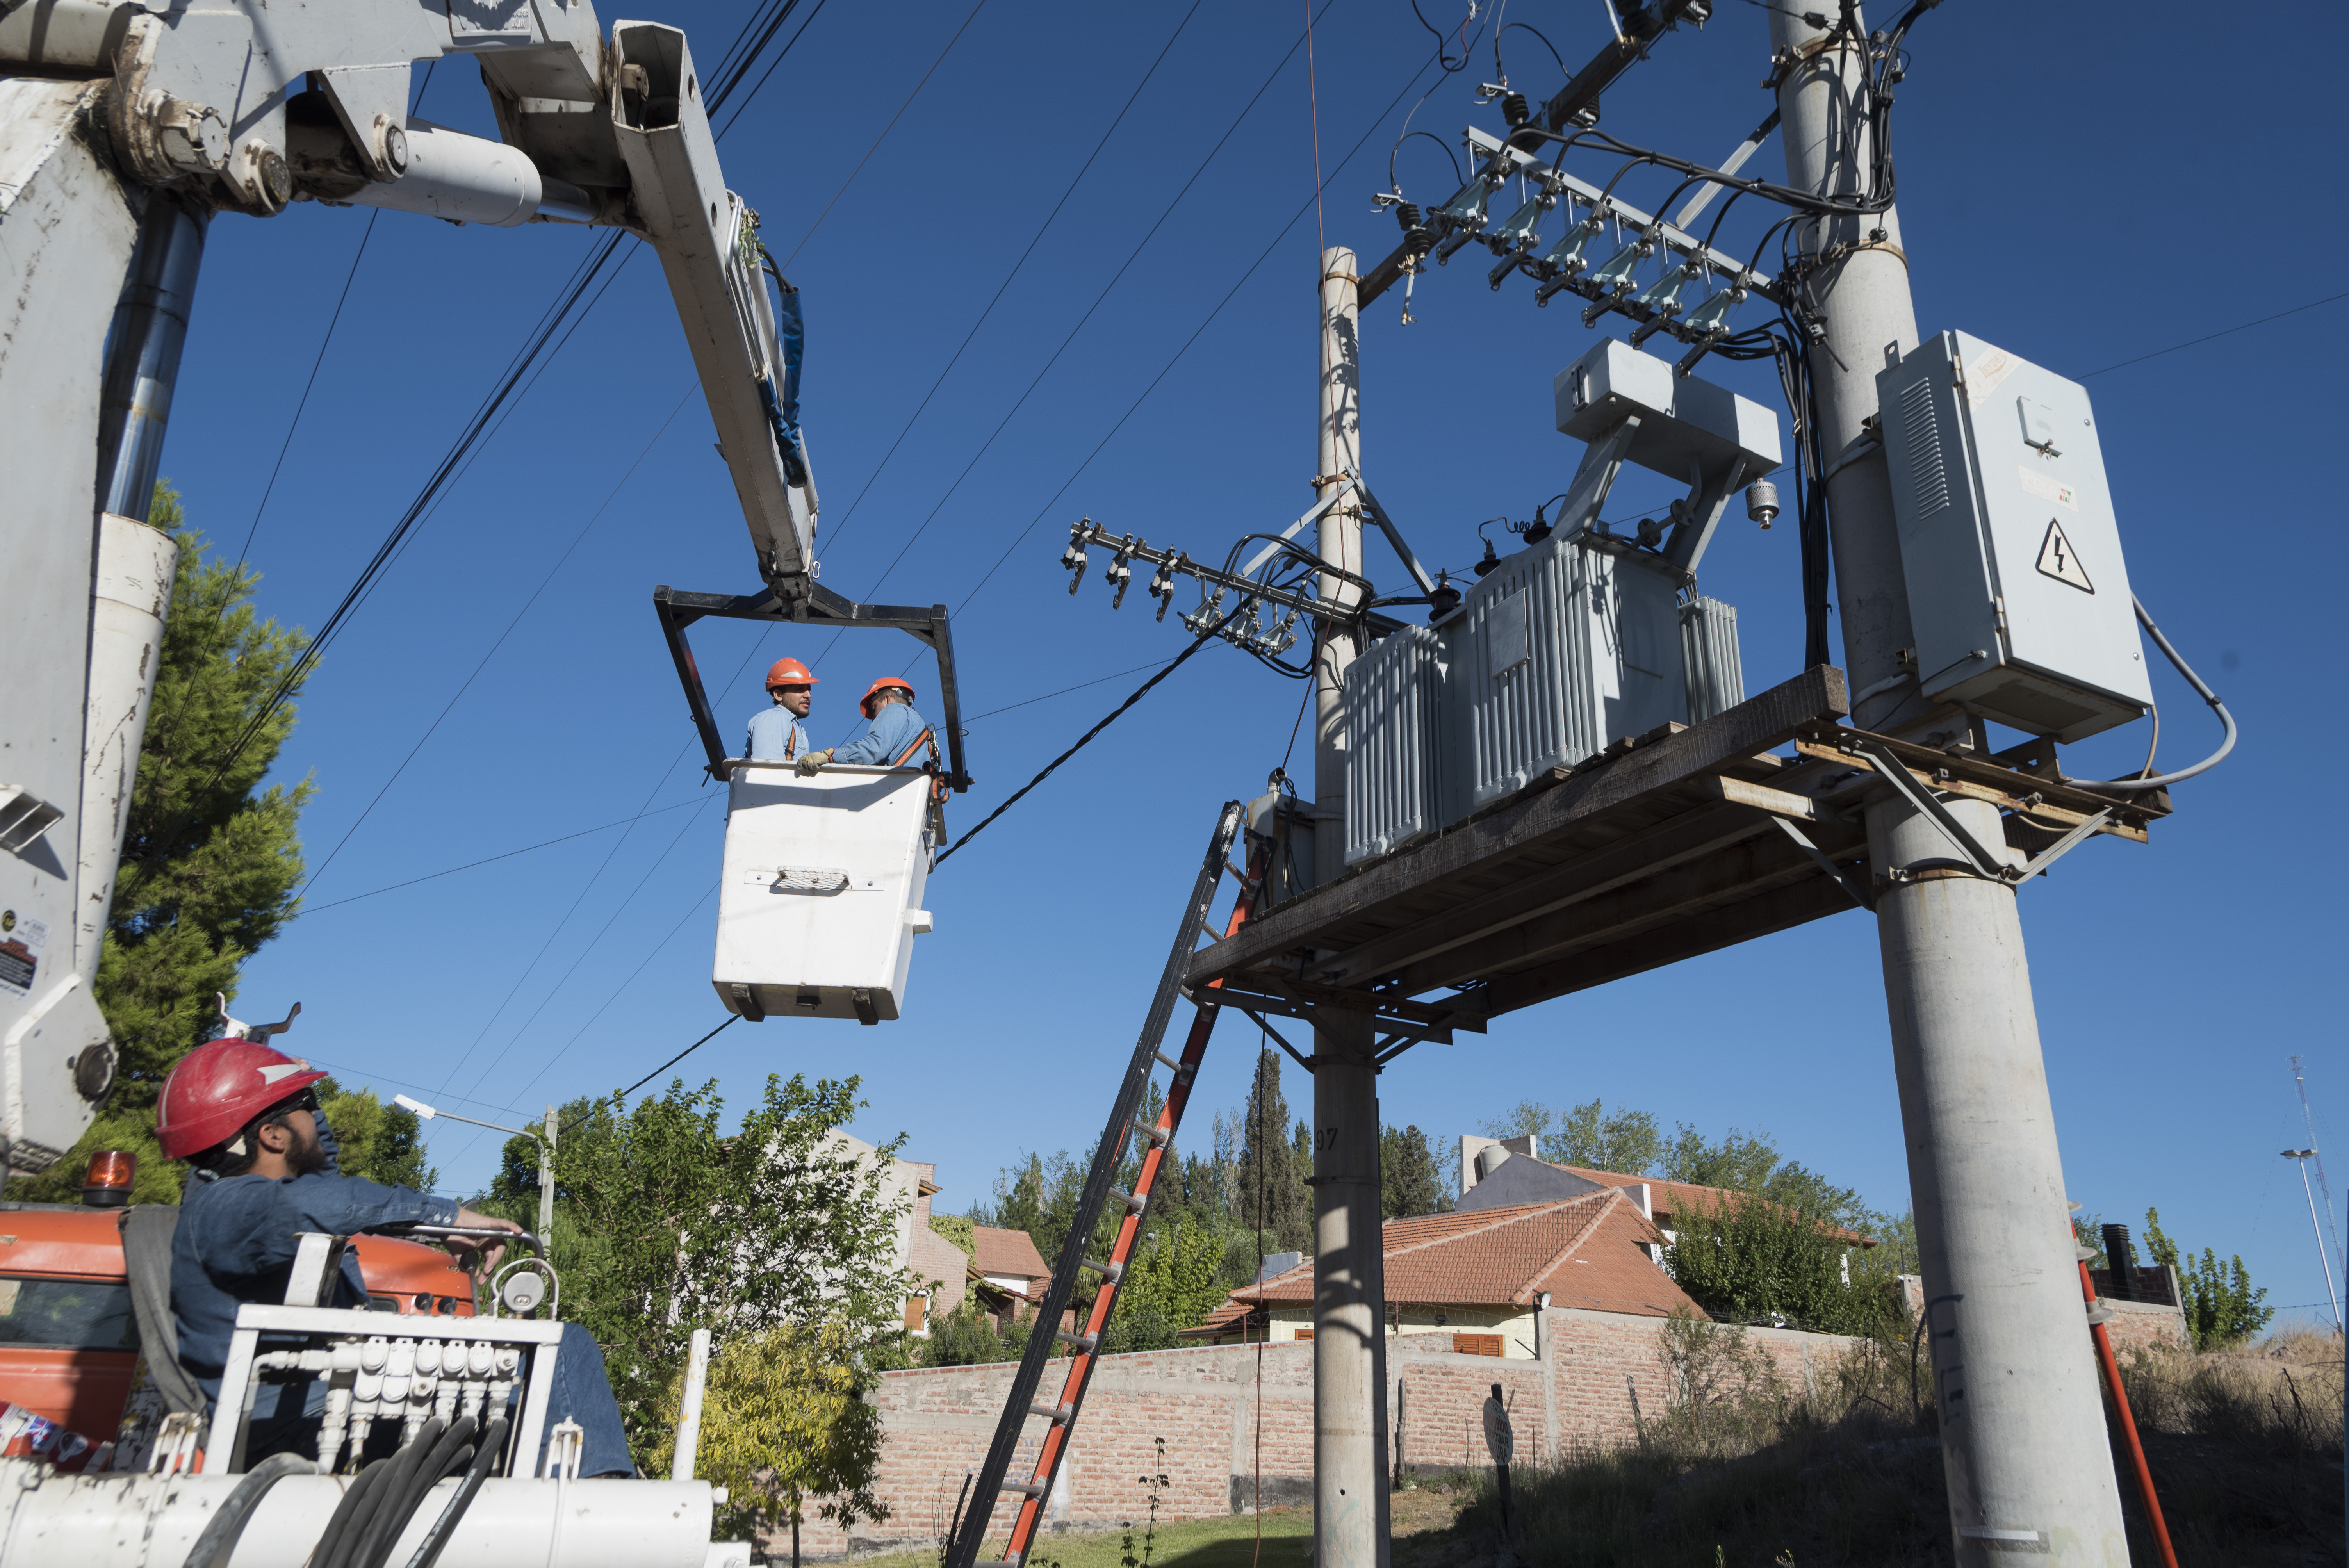
[[(1872, 1340), (1802, 1397), (1736, 1329), (1677, 1322), (1684, 1399), (1630, 1448), (1515, 1474), (1515, 1559), (1543, 1568), (1842, 1568), (1950, 1563), (1931, 1383), (1907, 1343)], [(2337, 1563), (2342, 1361), (2330, 1336), (2133, 1357), (2123, 1371), (2178, 1556), (2227, 1568)], [(2114, 1453), (2131, 1556), (2161, 1561), (2126, 1453)], [(1395, 1568), (1492, 1563), (1499, 1498), (1395, 1542)]]

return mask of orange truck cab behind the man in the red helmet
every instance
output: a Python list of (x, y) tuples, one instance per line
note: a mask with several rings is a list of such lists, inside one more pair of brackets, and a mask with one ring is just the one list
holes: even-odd
[[(0, 1202), (0, 1413), (14, 1418), (14, 1406), (92, 1448), (122, 1425), (139, 1364), (124, 1214)], [(472, 1317), (472, 1275), (449, 1253), (371, 1235), (352, 1246), (376, 1312)]]

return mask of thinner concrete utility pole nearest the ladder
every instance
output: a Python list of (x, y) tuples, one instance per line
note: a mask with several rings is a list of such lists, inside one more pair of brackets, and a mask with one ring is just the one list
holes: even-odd
[[(1362, 472), (1362, 352), (1353, 251), (1322, 251), (1320, 451), (1313, 488)], [(1320, 559), (1362, 575), (1362, 509), (1348, 498), (1320, 519)], [(1360, 592), (1332, 573), (1320, 596)], [(1313, 876), (1346, 864), (1346, 667), (1351, 634), (1313, 653)], [(1313, 1026), (1313, 1561), (1386, 1568), (1386, 1265), (1379, 1202), (1379, 1068), (1369, 1014), (1322, 1009)]]

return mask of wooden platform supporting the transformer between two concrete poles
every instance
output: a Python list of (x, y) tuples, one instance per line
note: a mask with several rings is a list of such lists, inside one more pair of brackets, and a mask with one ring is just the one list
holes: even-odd
[[(2100, 810), (2112, 812), (2100, 833), (2145, 843), (2147, 824), (2168, 812), (2161, 791), (2095, 796), (2046, 782), (2053, 749), (1952, 756), (1851, 730), (1846, 709), (1844, 674), (1818, 667), (1701, 725), (1618, 742), (1257, 915), (1203, 948), (1189, 984), (1219, 979), (1231, 1002), (1257, 1012), (1346, 1007), (1372, 1012), (1381, 1028), (1447, 1040), (1569, 991), (1872, 904), (1858, 807), (1889, 786), (1856, 744), (1882, 746), (1943, 796), (2001, 805), (2008, 843), (2030, 852)], [(1792, 756), (1776, 756), (1788, 746)], [(1412, 1000), (1445, 988), (1452, 995)]]

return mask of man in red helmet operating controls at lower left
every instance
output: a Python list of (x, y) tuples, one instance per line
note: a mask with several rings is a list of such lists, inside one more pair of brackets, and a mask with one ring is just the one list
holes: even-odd
[[(521, 1230), (453, 1197), (343, 1176), (319, 1136), (315, 1084), (322, 1077), (308, 1061), (256, 1040), (211, 1040), (188, 1052), (162, 1082), (155, 1115), (162, 1153), (195, 1164), (171, 1237), (171, 1317), (181, 1366), (207, 1401), (221, 1397), (237, 1307), (287, 1298), (301, 1232), (348, 1237), (402, 1221)], [(503, 1253), (496, 1244), (458, 1237), (449, 1246), (479, 1256), (484, 1272)], [(355, 1249), (343, 1251), (334, 1293), (319, 1305), (369, 1305)], [(324, 1380), (263, 1383), (254, 1390), (247, 1460), (315, 1453), (324, 1401)], [(583, 1476), (634, 1474), (620, 1406), (604, 1378), (604, 1352), (578, 1324), (564, 1324), (554, 1354), (550, 1430), (559, 1420), (576, 1420), (585, 1432)], [(388, 1422), (385, 1430), (399, 1427)]]

